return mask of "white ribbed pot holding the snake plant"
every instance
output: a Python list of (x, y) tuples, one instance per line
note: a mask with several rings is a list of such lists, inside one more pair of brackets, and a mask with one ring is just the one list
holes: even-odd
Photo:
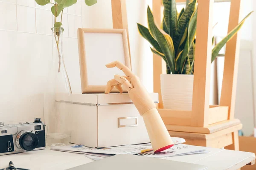
[(192, 110), (194, 75), (161, 74), (163, 107), (172, 110)]

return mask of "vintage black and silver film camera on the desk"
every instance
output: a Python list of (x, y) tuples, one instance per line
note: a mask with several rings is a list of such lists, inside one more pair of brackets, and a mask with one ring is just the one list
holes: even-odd
[(0, 122), (0, 155), (45, 148), (45, 127), (40, 118), (35, 122), (4, 125)]

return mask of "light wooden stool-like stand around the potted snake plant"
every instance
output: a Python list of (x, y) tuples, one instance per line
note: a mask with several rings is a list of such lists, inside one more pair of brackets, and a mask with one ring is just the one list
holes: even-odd
[[(228, 31), (235, 28), (240, 19), (241, 0), (230, 1)], [(186, 0), (176, 0), (176, 2), (186, 2)], [(233, 144), (233, 149), (237, 150), (238, 130), (242, 128), (240, 121), (234, 119), (239, 33), (226, 45), (220, 105), (209, 105), (213, 3), (214, 0), (198, 0), (192, 111), (163, 109), (160, 74), (163, 73), (164, 65), (161, 57), (155, 54), (153, 54), (154, 92), (159, 93), (158, 111), (172, 136), (189, 136), (192, 139), (198, 139), (197, 145), (206, 146), (207, 139), (214, 139), (218, 133), (219, 140), (225, 140), (223, 135), (228, 138), (226, 143), (222, 142), (218, 147)], [(161, 0), (153, 0), (153, 14), (158, 25), (162, 20), (161, 8)], [(224, 130), (226, 134), (218, 132), (220, 130)], [(199, 139), (203, 140), (204, 144), (200, 143)], [(212, 141), (220, 142), (218, 140)], [(235, 143), (236, 146), (234, 146)], [(190, 144), (196, 144), (195, 140)]]

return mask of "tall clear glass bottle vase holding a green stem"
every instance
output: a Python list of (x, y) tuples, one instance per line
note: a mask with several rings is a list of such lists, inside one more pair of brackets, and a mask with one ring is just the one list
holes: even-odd
[(70, 81), (65, 68), (62, 40), (63, 28), (52, 28), (52, 61), (50, 63), (47, 91), (44, 94), (44, 122), (46, 142), (49, 146), (63, 146), (70, 142), (71, 122)]

